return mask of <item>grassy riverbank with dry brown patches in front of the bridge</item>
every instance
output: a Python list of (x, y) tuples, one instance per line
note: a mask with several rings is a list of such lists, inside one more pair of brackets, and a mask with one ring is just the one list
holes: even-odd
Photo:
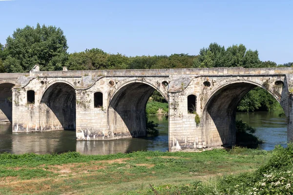
[(6, 153), (0, 154), (0, 194), (166, 194), (194, 182), (207, 184), (224, 175), (254, 171), (271, 156), (241, 148), (105, 156)]

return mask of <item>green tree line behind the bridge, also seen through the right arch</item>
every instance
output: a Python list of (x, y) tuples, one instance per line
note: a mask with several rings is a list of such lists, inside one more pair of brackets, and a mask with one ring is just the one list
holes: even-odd
[[(293, 66), (293, 62), (277, 65), (273, 61), (261, 61), (257, 50), (248, 50), (243, 44), (226, 49), (210, 43), (209, 47), (200, 49), (198, 55), (182, 53), (135, 57), (109, 54), (98, 48), (69, 54), (67, 49), (67, 40), (60, 28), (39, 23), (36, 27), (18, 28), (5, 44), (0, 43), (0, 73), (29, 72), (35, 64), (40, 65), (41, 71), (62, 70), (63, 66), (68, 70)], [(261, 88), (251, 90), (241, 100), (238, 110), (272, 109), (275, 100), (267, 98), (267, 95)]]

